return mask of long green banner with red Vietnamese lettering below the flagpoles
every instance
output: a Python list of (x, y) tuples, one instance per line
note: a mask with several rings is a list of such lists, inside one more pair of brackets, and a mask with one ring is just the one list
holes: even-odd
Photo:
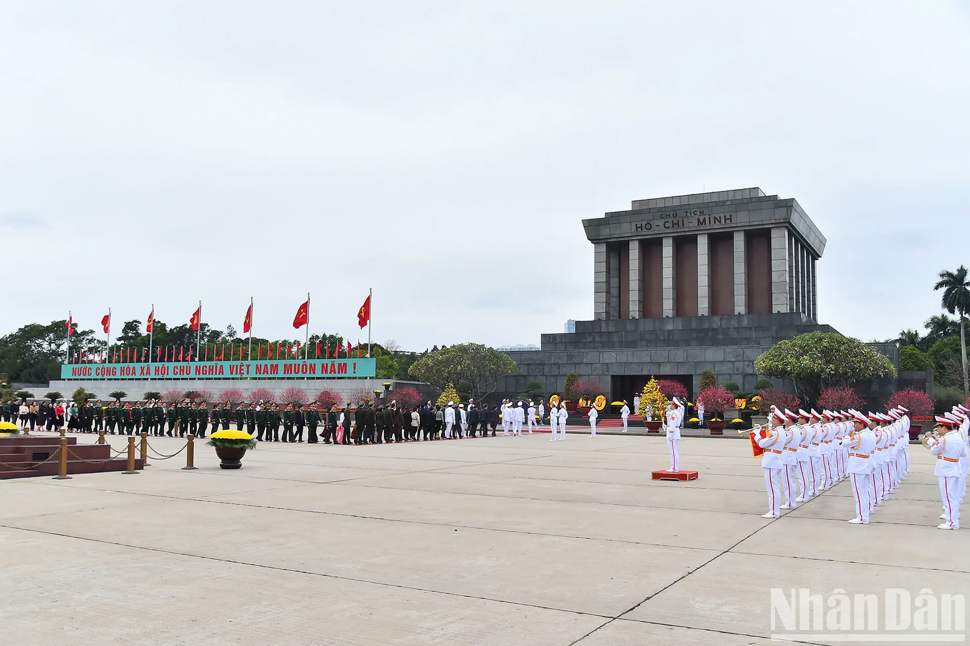
[(61, 379), (348, 379), (375, 377), (377, 359), (65, 363)]

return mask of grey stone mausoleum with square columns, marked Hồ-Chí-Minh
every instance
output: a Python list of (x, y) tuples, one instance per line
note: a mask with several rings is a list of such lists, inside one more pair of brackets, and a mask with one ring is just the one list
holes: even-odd
[[(825, 238), (792, 198), (750, 188), (634, 200), (583, 227), (595, 249), (593, 320), (543, 334), (539, 352), (508, 353), (519, 373), (500, 385), (507, 396), (533, 380), (560, 392), (574, 371), (611, 401), (631, 401), (651, 376), (693, 397), (705, 368), (751, 391), (759, 354), (835, 331), (817, 320)], [(894, 346), (877, 349), (898, 364)]]

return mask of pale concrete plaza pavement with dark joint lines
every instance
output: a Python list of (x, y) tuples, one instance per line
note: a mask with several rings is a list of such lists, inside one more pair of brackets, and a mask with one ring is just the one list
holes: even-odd
[(651, 480), (661, 437), (549, 439), (261, 444), (239, 471), (200, 441), (197, 471), (0, 480), (0, 642), (763, 644), (771, 588), (970, 596), (921, 446), (854, 526), (847, 482), (760, 518), (747, 442), (683, 440), (685, 483)]

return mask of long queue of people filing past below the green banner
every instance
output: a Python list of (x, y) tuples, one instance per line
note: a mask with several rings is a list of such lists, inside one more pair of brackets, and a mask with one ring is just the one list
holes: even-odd
[[(501, 407), (481, 407), (469, 402), (433, 405), (427, 402), (418, 407), (389, 404), (361, 403), (354, 407), (347, 403), (339, 409), (336, 404), (329, 408), (317, 402), (301, 405), (296, 402), (276, 404), (263, 400), (240, 402), (233, 407), (230, 402), (217, 402), (210, 408), (206, 401), (191, 402), (188, 399), (176, 404), (158, 400), (120, 402), (107, 406), (99, 399), (78, 405), (75, 402), (5, 404), (2, 409), (5, 421), (19, 422), (21, 428), (66, 428), (80, 433), (105, 431), (112, 435), (149, 435), (184, 437), (186, 434), (205, 438), (207, 432), (229, 429), (246, 431), (258, 442), (307, 442), (316, 444), (384, 444), (416, 442), (419, 440), (458, 440), (464, 438), (492, 437), (501, 424), (503, 435), (519, 435), (523, 422), (528, 419), (532, 433), (536, 417), (541, 421), (542, 404), (538, 415), (532, 402), (528, 410), (524, 402), (503, 401)], [(565, 413), (564, 408), (562, 413)], [(564, 415), (565, 416), (565, 415)], [(565, 419), (562, 419), (565, 428)], [(281, 430), (280, 430), (281, 429)], [(480, 434), (480, 435), (479, 435)]]

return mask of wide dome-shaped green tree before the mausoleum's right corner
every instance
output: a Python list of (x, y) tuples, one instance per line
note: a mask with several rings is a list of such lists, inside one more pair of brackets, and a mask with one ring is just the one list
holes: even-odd
[(858, 339), (835, 332), (809, 332), (782, 341), (755, 359), (760, 375), (790, 379), (809, 401), (831, 385), (856, 385), (895, 377), (889, 358)]

